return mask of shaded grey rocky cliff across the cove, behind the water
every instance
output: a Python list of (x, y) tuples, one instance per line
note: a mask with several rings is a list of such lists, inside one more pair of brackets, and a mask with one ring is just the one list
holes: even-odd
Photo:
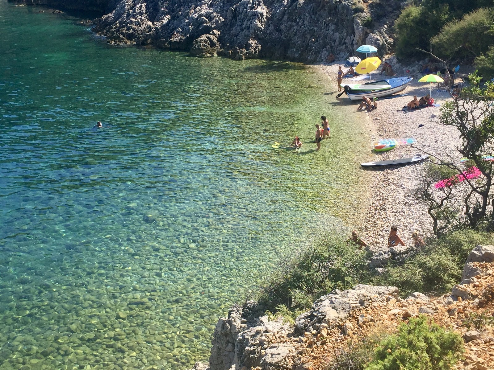
[[(369, 39), (362, 23), (369, 14), (356, 14), (353, 0), (121, 0), (93, 30), (113, 43), (154, 44), (202, 57), (316, 62), (330, 54), (345, 57)], [(386, 50), (390, 43), (382, 32), (369, 40)]]

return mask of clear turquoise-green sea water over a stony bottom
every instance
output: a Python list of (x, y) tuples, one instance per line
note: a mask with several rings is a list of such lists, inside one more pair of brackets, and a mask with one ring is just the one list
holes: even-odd
[(81, 20), (0, 0), (0, 368), (186, 369), (283, 259), (351, 227), (364, 133), (313, 68)]

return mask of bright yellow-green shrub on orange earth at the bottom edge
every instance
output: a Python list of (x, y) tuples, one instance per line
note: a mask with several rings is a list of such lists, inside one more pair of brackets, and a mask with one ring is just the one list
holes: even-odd
[(398, 334), (382, 340), (367, 370), (450, 370), (463, 353), (463, 339), (420, 316), (410, 319)]

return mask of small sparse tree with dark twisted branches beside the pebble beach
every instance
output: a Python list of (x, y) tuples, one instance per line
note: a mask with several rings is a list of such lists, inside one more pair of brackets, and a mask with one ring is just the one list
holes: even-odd
[[(454, 218), (464, 218), (465, 225), (470, 228), (485, 226), (490, 231), (494, 230), (491, 193), (494, 161), (490, 160), (494, 154), (494, 84), (488, 83), (483, 89), (477, 74), (471, 74), (469, 78), (471, 86), (464, 88), (452, 102), (443, 105), (439, 123), (458, 129), (461, 145), (457, 150), (468, 159), (467, 171), (468, 168), (477, 171), (476, 167), (481, 176), (466, 176), (465, 168), (456, 164), (453, 156), (444, 159), (430, 154), (438, 166), (452, 170), (450, 174), (455, 173), (455, 177), (445, 184), (443, 190), (434, 192), (432, 184), (444, 178), (445, 172), (437, 167), (428, 167), (421, 185), (412, 194), (428, 205), (429, 215), (434, 220), (434, 232), (438, 236), (452, 225)], [(462, 186), (452, 190), (459, 181), (462, 181)], [(461, 206), (455, 199), (461, 200)]]

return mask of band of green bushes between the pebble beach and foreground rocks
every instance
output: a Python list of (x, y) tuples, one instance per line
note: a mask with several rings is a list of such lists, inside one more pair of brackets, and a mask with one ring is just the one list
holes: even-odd
[(461, 277), (464, 263), (476, 244), (493, 243), (492, 234), (458, 230), (429, 245), (398, 264), (392, 261), (383, 274), (367, 267), (368, 256), (338, 236), (321, 238), (275, 272), (255, 298), (273, 311), (308, 309), (313, 301), (333, 289), (353, 285), (391, 285), (401, 296), (413, 292), (443, 294)]

